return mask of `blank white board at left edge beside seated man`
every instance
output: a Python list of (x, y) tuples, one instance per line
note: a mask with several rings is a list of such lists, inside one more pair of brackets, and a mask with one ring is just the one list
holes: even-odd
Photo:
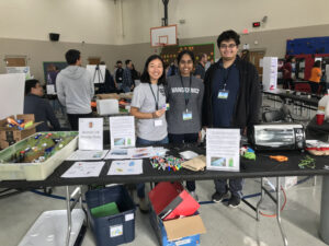
[(25, 74), (0, 74), (0, 119), (23, 114)]

